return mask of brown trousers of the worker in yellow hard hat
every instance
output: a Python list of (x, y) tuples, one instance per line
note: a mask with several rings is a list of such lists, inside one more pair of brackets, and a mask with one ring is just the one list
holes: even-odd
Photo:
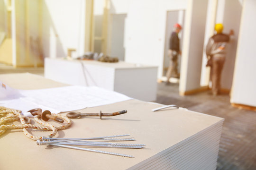
[(211, 82), (212, 82), (212, 94), (217, 95), (220, 93), (220, 81), (221, 72), (225, 62), (225, 57), (214, 57), (212, 58), (212, 71), (211, 71)]

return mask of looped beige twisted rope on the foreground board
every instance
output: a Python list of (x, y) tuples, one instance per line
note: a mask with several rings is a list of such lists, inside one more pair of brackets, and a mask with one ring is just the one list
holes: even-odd
[[(42, 140), (42, 136), (34, 136), (30, 132), (27, 131), (27, 128), (33, 128), (40, 131), (53, 131), (49, 137), (53, 137), (56, 135), (57, 130), (63, 130), (71, 125), (71, 120), (66, 116), (62, 116), (59, 114), (52, 114), (53, 116), (57, 116), (61, 119), (64, 119), (65, 124), (61, 126), (54, 126), (46, 121), (39, 119), (38, 116), (35, 117), (35, 121), (42, 126), (32, 125), (30, 124), (31, 119), (22, 115), (20, 110), (9, 109), (3, 106), (0, 106), (0, 136), (6, 132), (7, 129), (22, 129), (23, 133), (30, 139), (33, 140)], [(15, 124), (7, 124), (10, 122), (14, 122), (20, 120), (20, 125)]]

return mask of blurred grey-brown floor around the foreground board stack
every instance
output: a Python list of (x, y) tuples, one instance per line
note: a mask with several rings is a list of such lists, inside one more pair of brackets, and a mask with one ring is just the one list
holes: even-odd
[[(44, 68), (12, 68), (0, 64), (0, 74), (29, 72), (44, 75)], [(256, 170), (256, 111), (239, 110), (229, 95), (212, 96), (209, 91), (180, 96), (178, 84), (158, 83), (157, 99), (189, 110), (225, 118), (220, 139), (217, 170)]]

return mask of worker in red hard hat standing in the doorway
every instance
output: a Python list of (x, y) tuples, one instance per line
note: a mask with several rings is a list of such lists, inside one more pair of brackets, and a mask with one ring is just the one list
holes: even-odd
[(179, 54), (181, 55), (181, 50), (180, 50), (180, 39), (178, 34), (182, 30), (182, 26), (179, 25), (178, 23), (174, 24), (174, 30), (171, 34), (170, 42), (169, 42), (169, 51), (168, 51), (168, 56), (170, 58), (169, 61), (169, 67), (166, 72), (166, 85), (168, 85), (169, 79), (171, 78), (172, 74), (174, 73), (176, 77), (179, 77), (178, 73), (178, 56)]

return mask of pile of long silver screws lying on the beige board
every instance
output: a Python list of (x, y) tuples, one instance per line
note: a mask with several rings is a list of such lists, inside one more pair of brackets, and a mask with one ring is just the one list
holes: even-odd
[[(130, 148), (130, 149), (141, 149), (144, 148), (145, 144), (120, 144), (120, 143), (112, 143), (112, 141), (134, 141), (134, 138), (116, 138), (116, 137), (123, 137), (129, 136), (127, 135), (115, 135), (115, 136), (103, 136), (103, 137), (89, 137), (89, 138), (54, 138), (54, 137), (43, 137), (43, 141), (37, 140), (37, 145), (53, 145), (71, 149), (78, 149), (83, 151), (90, 151), (96, 153), (105, 153), (117, 156), (124, 156), (133, 158), (132, 155), (126, 155), (121, 153), (112, 153), (112, 152), (105, 152), (99, 150), (93, 150), (84, 148), (88, 147), (114, 147), (114, 148)], [(96, 141), (95, 141), (96, 140)], [(98, 141), (97, 141), (98, 140)], [(107, 142), (103, 142), (107, 141)], [(82, 146), (82, 147), (77, 147)]]

